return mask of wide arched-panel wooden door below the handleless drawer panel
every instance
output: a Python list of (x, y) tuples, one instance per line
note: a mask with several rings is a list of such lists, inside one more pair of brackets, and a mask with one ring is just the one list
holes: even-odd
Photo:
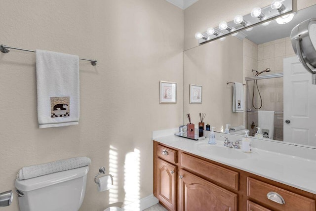
[(181, 169), (181, 211), (237, 211), (237, 194)]

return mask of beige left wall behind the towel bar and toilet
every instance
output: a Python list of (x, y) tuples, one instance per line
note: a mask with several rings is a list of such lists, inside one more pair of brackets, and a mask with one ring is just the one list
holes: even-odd
[[(24, 166), (87, 156), (80, 210), (152, 194), (152, 130), (182, 123), (183, 10), (165, 0), (11, 0), (0, 7), (1, 44), (98, 60), (95, 67), (79, 62), (79, 125), (39, 129), (35, 53), (0, 53), (0, 192), (14, 189)], [(178, 83), (176, 104), (159, 104), (160, 80)], [(93, 181), (102, 166), (115, 174), (110, 192), (99, 193)], [(17, 197), (4, 209), (17, 211)]]

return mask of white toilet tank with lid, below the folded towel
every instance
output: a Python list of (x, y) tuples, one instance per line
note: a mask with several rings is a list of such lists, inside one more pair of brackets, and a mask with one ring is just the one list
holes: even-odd
[(89, 167), (70, 169), (26, 180), (15, 180), (20, 211), (78, 211)]

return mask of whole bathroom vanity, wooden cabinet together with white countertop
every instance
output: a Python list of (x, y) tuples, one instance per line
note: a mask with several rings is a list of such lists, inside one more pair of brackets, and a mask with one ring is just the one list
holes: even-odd
[(313, 151), (307, 149), (308, 158), (302, 158), (269, 151), (277, 143), (254, 141), (253, 152), (246, 154), (224, 147), (218, 137), (216, 145), (208, 145), (207, 140), (154, 136), (154, 195), (166, 209), (316, 210), (316, 162), (308, 157)]

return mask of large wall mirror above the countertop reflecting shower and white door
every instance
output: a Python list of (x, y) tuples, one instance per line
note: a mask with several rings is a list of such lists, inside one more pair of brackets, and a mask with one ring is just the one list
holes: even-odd
[[(316, 18), (316, 5), (289, 16), (287, 23), (275, 19), (241, 31), (244, 39), (227, 36), (184, 51), (183, 124), (188, 113), (196, 125), (198, 113), (206, 113), (204, 123), (216, 131), (230, 124), (254, 136), (256, 127), (263, 126), (271, 140), (316, 148), (316, 85), (290, 40), (297, 24)], [(245, 84), (243, 112), (232, 111), (234, 84), (227, 82)], [(190, 103), (190, 84), (202, 87), (201, 103)], [(242, 129), (231, 133), (240, 135)]]

